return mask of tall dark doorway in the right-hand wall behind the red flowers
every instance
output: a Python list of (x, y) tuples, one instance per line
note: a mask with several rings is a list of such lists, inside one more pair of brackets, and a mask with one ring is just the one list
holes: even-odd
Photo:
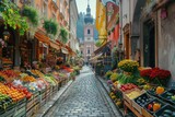
[(143, 65), (155, 67), (155, 26), (152, 20), (143, 24)]

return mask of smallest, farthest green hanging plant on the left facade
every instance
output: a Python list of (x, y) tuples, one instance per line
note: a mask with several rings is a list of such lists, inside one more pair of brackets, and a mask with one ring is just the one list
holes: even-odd
[(67, 44), (67, 42), (68, 42), (68, 31), (67, 31), (65, 27), (61, 27), (59, 35), (60, 35), (60, 37), (61, 37), (61, 42), (62, 42), (63, 44)]

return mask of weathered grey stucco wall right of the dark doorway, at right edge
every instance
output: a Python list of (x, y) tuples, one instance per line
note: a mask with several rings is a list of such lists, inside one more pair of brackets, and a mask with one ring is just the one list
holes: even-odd
[(159, 67), (171, 70), (175, 80), (175, 3), (167, 8), (166, 19), (159, 19)]

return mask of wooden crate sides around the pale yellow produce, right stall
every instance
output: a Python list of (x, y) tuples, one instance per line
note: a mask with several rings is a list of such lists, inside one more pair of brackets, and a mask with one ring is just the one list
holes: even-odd
[[(124, 97), (124, 100), (127, 101), (130, 105), (132, 105), (132, 100), (129, 98), (129, 97), (127, 96), (127, 94), (129, 94), (129, 93), (131, 93), (131, 92), (133, 92), (133, 91), (139, 92), (140, 95), (144, 93), (143, 91), (140, 91), (140, 90), (137, 89), (137, 87), (136, 87), (136, 89), (132, 89), (132, 90), (128, 90), (128, 91), (126, 91), (126, 92), (122, 92), (122, 97)], [(133, 98), (133, 100), (135, 100), (135, 98)]]

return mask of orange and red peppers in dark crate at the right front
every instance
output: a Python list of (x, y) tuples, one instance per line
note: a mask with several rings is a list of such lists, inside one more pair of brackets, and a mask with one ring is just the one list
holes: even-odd
[(144, 107), (150, 113), (155, 113), (159, 109), (161, 109), (163, 106), (164, 106), (164, 104), (161, 101), (155, 98), (155, 100), (151, 101), (149, 104), (147, 104)]

